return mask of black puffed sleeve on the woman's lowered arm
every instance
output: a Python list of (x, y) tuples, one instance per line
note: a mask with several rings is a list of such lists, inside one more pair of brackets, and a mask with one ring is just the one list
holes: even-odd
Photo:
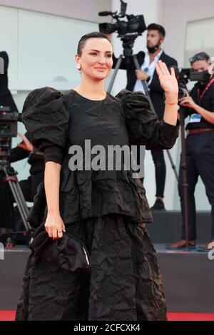
[(61, 163), (69, 123), (63, 95), (49, 87), (32, 91), (24, 102), (22, 121), (31, 143), (44, 152), (45, 162)]

